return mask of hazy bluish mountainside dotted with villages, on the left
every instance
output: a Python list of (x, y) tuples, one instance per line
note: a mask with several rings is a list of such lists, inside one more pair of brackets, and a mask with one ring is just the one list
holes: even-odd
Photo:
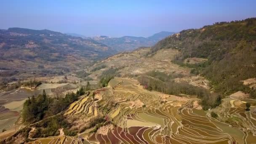
[(114, 49), (91, 39), (46, 29), (1, 29), (0, 77), (63, 75), (114, 53)]

